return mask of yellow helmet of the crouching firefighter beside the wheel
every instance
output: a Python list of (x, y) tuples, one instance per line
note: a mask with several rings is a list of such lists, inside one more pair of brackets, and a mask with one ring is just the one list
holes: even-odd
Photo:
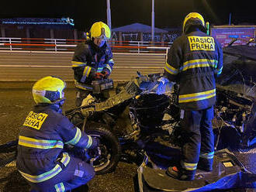
[(43, 77), (33, 85), (33, 99), (36, 104), (54, 104), (57, 101), (63, 101), (65, 99), (63, 93), (65, 87), (65, 81), (59, 77)]

